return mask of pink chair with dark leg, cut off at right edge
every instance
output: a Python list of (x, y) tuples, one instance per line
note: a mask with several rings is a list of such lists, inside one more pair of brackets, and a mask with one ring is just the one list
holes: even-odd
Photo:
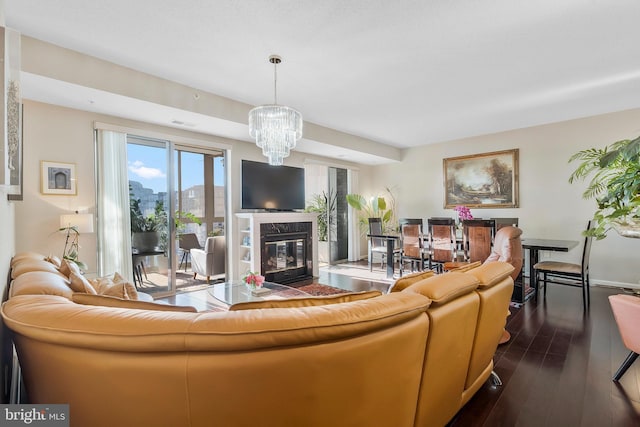
[(640, 353), (640, 332), (638, 331), (640, 298), (633, 295), (611, 295), (609, 296), (609, 304), (611, 304), (622, 342), (631, 351), (613, 376), (613, 381), (618, 382)]

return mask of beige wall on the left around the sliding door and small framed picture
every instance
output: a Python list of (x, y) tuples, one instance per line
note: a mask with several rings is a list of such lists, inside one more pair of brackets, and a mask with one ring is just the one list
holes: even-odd
[[(94, 122), (104, 122), (115, 126), (139, 129), (140, 134), (152, 133), (164, 135), (177, 142), (188, 142), (191, 145), (211, 145), (230, 147), (227, 159), (228, 168), (228, 200), (230, 212), (240, 210), (240, 162), (242, 159), (264, 161), (260, 150), (254, 144), (243, 141), (231, 141), (210, 135), (185, 132), (172, 128), (132, 122), (116, 117), (73, 110), (33, 101), (25, 101), (24, 106), (24, 201), (15, 206), (16, 243), (15, 251), (36, 251), (43, 254), (61, 256), (64, 248), (64, 235), (56, 232), (59, 217), (63, 213), (75, 210), (95, 214), (95, 167), (94, 167)], [(302, 166), (307, 159), (326, 161), (317, 156), (307, 156), (294, 152), (285, 160), (290, 166)], [(77, 195), (51, 196), (40, 192), (40, 162), (43, 160), (68, 162), (76, 165), (78, 177)], [(350, 167), (348, 163), (345, 167)], [(0, 205), (0, 215), (3, 207)], [(10, 215), (7, 207), (7, 215)], [(11, 216), (12, 217), (12, 216)], [(0, 219), (2, 219), (0, 217)], [(229, 245), (235, 244), (237, 233), (233, 217), (228, 221)], [(13, 231), (13, 229), (11, 229)], [(13, 235), (13, 232), (11, 232)], [(88, 273), (96, 272), (96, 234), (80, 236), (80, 259), (88, 264)], [(0, 245), (8, 254), (3, 258), (7, 267), (13, 255), (13, 244)], [(1, 254), (1, 253), (0, 253)], [(230, 271), (235, 274), (235, 254), (230, 251)], [(6, 276), (6, 274), (5, 274)]]

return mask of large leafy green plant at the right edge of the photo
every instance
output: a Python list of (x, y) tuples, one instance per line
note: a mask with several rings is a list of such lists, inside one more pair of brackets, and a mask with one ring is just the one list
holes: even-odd
[(584, 234), (600, 240), (613, 228), (621, 236), (640, 238), (640, 137), (579, 151), (572, 161), (580, 164), (569, 182), (591, 176), (582, 196), (598, 205), (594, 227)]

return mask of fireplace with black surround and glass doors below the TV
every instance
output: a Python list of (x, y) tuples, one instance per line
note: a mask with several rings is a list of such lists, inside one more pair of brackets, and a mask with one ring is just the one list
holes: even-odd
[(311, 222), (260, 224), (260, 270), (265, 280), (288, 284), (312, 279), (311, 237)]

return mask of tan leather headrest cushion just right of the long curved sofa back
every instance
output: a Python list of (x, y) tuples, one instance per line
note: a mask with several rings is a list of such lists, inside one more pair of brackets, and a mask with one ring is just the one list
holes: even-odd
[(414, 283), (404, 292), (415, 292), (431, 299), (432, 305), (445, 304), (478, 287), (478, 279), (469, 273), (449, 272), (438, 274)]

